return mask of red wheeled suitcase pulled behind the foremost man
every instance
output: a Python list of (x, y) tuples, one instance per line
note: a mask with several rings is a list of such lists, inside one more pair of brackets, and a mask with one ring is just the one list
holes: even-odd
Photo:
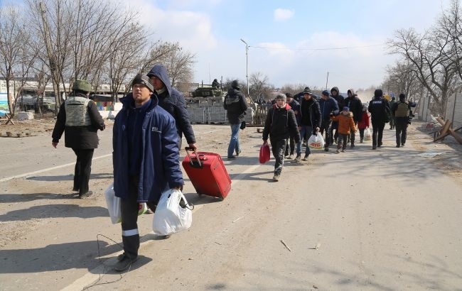
[(231, 190), (231, 179), (217, 153), (190, 153), (186, 148), (183, 168), (198, 194), (225, 199)]

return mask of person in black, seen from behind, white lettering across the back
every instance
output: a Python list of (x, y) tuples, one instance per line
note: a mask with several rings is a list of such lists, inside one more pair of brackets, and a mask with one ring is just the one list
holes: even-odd
[(390, 121), (390, 104), (383, 98), (382, 89), (376, 89), (374, 99), (369, 102), (367, 108), (372, 120), (372, 150), (382, 146), (383, 128)]

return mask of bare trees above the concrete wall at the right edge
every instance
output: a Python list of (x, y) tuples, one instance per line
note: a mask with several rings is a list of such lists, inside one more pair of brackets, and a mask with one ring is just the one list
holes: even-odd
[(434, 26), (424, 33), (413, 28), (396, 31), (388, 40), (390, 53), (401, 58), (388, 67), (382, 87), (408, 97), (429, 97), (430, 110), (444, 115), (448, 97), (462, 88), (462, 9), (451, 0)]

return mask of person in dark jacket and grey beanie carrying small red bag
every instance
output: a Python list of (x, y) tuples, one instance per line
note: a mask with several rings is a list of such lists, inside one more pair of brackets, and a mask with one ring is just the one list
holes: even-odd
[(277, 94), (276, 104), (269, 109), (267, 119), (264, 121), (263, 143), (271, 143), (274, 163), (273, 181), (279, 181), (282, 168), (284, 167), (284, 152), (286, 151), (287, 139), (294, 136), (295, 142), (300, 143), (299, 128), (294, 111), (289, 104), (286, 104), (286, 95)]

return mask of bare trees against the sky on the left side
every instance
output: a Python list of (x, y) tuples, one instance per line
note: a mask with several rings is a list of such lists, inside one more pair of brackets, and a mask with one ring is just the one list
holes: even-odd
[(124, 85), (136, 73), (161, 63), (173, 86), (191, 82), (195, 55), (178, 43), (151, 40), (136, 15), (109, 0), (25, 0), (23, 6), (1, 6), (0, 76), (10, 112), (31, 78), (38, 81), (37, 92), (53, 83), (56, 111), (75, 79), (87, 79), (94, 89), (109, 84), (115, 98), (127, 92)]

